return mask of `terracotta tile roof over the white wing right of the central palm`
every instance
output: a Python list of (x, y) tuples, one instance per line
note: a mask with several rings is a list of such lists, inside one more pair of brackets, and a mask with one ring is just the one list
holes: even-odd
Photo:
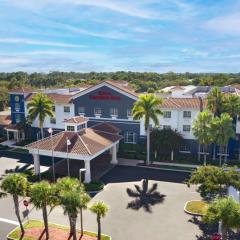
[(161, 108), (201, 108), (199, 98), (164, 98)]

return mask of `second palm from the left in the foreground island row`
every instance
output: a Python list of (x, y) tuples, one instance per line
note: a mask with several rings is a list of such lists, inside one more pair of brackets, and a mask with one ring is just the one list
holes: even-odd
[(42, 209), (46, 239), (49, 238), (47, 206), (53, 202), (51, 185), (47, 181), (34, 184), (30, 190), (30, 201), (36, 209)]

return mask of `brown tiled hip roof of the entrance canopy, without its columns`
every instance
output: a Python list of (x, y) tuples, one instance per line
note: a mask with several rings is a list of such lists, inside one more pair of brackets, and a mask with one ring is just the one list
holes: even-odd
[(122, 137), (117, 134), (110, 134), (106, 132), (96, 131), (91, 128), (86, 128), (80, 132), (63, 131), (50, 137), (44, 138), (37, 142), (26, 146), (27, 149), (39, 149), (55, 152), (67, 152), (67, 139), (70, 140), (71, 145), (68, 146), (70, 154), (92, 156), (101, 152), (105, 148), (117, 142)]

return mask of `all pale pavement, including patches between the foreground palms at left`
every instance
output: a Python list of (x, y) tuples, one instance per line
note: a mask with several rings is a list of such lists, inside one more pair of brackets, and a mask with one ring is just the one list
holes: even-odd
[[(156, 191), (160, 196), (164, 195), (162, 198), (164, 201), (152, 204), (150, 212), (143, 207), (138, 210), (128, 207), (139, 202), (128, 195), (127, 188), (135, 189), (136, 184), (142, 189), (142, 179), (145, 177), (150, 179), (149, 188), (157, 183)], [(90, 204), (96, 200), (102, 200), (110, 206), (107, 216), (102, 221), (102, 229), (104, 233), (111, 235), (113, 240), (198, 239), (196, 235), (201, 236), (202, 232), (197, 224), (189, 222), (191, 217), (184, 213), (183, 206), (188, 200), (199, 199), (199, 194), (194, 188), (187, 188), (182, 184), (186, 177), (188, 174), (179, 172), (117, 166), (103, 177), (103, 181), (108, 184), (104, 191), (91, 200)], [(144, 199), (141, 202), (142, 205), (151, 205), (152, 199)], [(131, 202), (132, 205), (129, 205)], [(21, 203), (20, 206), (22, 214), (24, 207)], [(36, 211), (32, 206), (30, 210), (31, 218), (42, 219), (41, 211)], [(10, 197), (0, 200), (0, 218), (16, 221)], [(52, 211), (49, 221), (69, 224), (67, 217), (63, 217), (61, 207)], [(86, 230), (97, 230), (96, 216), (89, 211), (84, 212), (84, 226)], [(13, 227), (14, 225), (6, 224), (0, 219), (0, 239), (4, 240), (6, 232)], [(6, 230), (2, 231), (2, 229)]]

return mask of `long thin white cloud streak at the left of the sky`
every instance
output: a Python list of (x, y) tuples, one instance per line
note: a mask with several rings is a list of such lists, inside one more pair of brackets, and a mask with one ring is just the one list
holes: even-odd
[(33, 40), (33, 39), (27, 39), (27, 38), (0, 38), (0, 43), (52, 46), (52, 47), (65, 47), (65, 48), (84, 47), (83, 45), (78, 45), (78, 44), (69, 44), (69, 43), (61, 43), (61, 42), (49, 42), (49, 41)]

